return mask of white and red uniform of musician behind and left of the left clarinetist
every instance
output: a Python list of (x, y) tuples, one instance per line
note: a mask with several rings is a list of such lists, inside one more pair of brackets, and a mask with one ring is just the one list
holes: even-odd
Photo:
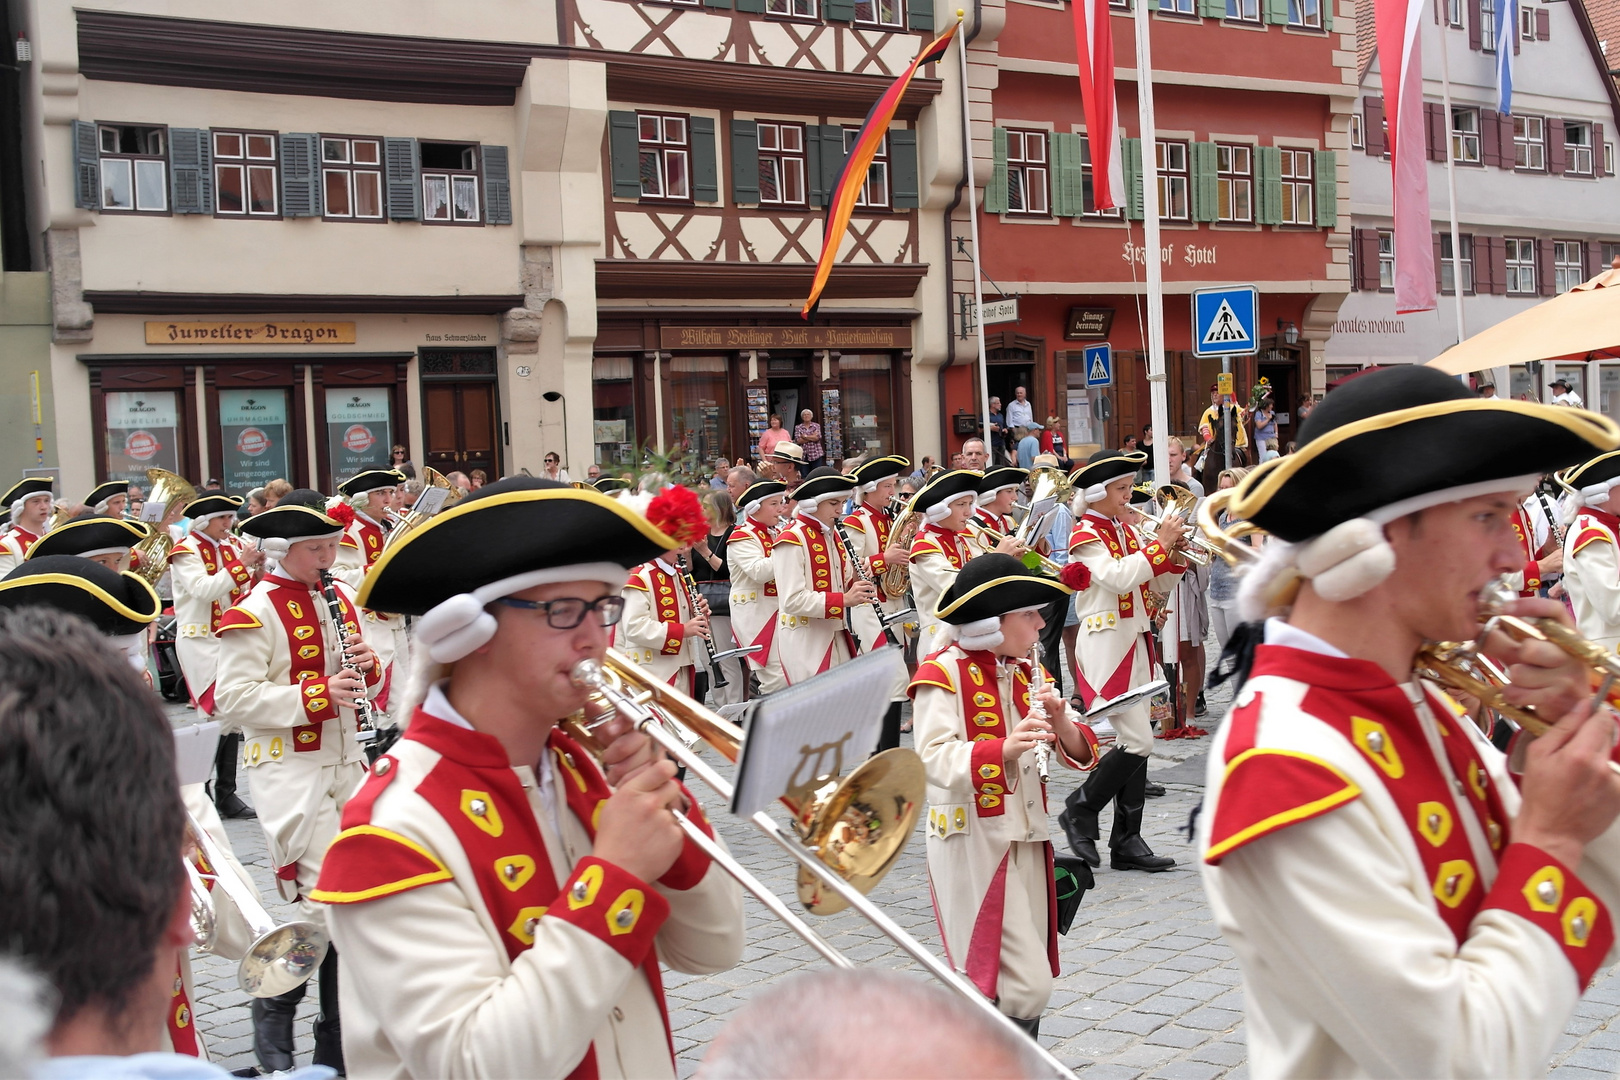
[[(186, 677), (191, 703), (202, 716), (215, 712), (219, 622), (253, 588), (253, 572), (241, 563), (237, 541), (186, 533), (168, 552), (168, 583), (175, 591), (175, 654)], [(220, 712), (224, 733), (237, 722)]]

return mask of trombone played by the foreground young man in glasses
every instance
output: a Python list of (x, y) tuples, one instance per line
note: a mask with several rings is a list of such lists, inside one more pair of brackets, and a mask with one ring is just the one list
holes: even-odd
[[(732, 798), (734, 785), (731, 780), (719, 776), (701, 756), (687, 748), (672, 729), (677, 725), (690, 727), (723, 758), (737, 761), (744, 735), (735, 724), (711, 712), (674, 687), (651, 678), (617, 649), (608, 649), (603, 662), (583, 659), (575, 664), (573, 685), (590, 690), (593, 696), (611, 706), (593, 721), (575, 714), (562, 722), (564, 732), (598, 755), (598, 759), (604, 746), (593, 729), (606, 724), (617, 712), (650, 735), (721, 798)], [(917, 824), (923, 790), (922, 758), (914, 750), (885, 750), (868, 758), (842, 782), (838, 777), (816, 777), (804, 787), (786, 792), (781, 801), (794, 818), (795, 836), (789, 836), (763, 810), (750, 816), (748, 821), (799, 863), (799, 899), (805, 908), (815, 915), (829, 915), (846, 907), (855, 908), (949, 989), (993, 1017), (1004, 1030), (1022, 1031), (967, 978), (940, 960), (891, 920), (883, 908), (867, 899), (867, 892), (883, 879), (906, 847), (906, 839)], [(823, 959), (834, 967), (855, 967), (849, 957), (791, 912), (781, 897), (770, 892), (735, 857), (711, 840), (698, 826), (679, 813), (676, 813), (676, 821), (682, 832), (703, 848), (721, 870), (735, 878)], [(1035, 1043), (1035, 1051), (1056, 1075), (1074, 1075), (1068, 1065), (1038, 1043)]]

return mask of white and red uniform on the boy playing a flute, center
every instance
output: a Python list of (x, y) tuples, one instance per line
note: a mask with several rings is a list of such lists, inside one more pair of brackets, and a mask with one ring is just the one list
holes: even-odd
[[(909, 693), (928, 776), (928, 882), (944, 952), (1009, 1017), (1038, 1017), (1058, 975), (1047, 789), (1008, 733), (1029, 714), (1032, 664), (951, 644), (917, 667)], [(1071, 719), (1072, 714), (1071, 714)], [(1081, 733), (1097, 761), (1097, 737)], [(1082, 769), (1053, 745), (1053, 761)]]

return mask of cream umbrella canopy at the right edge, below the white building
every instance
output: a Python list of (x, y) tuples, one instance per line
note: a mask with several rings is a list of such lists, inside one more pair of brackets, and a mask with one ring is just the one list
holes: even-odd
[(1474, 334), (1429, 361), (1448, 376), (1533, 359), (1620, 356), (1620, 269)]

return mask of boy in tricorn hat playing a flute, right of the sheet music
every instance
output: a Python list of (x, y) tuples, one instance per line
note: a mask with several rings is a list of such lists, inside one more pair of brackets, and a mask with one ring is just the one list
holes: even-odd
[(1097, 737), (1051, 682), (1030, 696), (1040, 609), (1068, 594), (1013, 555), (972, 559), (940, 597), (949, 643), (910, 683), (928, 776), (928, 881), (946, 955), (1030, 1038), (1058, 975), (1035, 746), (1048, 743), (1071, 769), (1097, 764)]

